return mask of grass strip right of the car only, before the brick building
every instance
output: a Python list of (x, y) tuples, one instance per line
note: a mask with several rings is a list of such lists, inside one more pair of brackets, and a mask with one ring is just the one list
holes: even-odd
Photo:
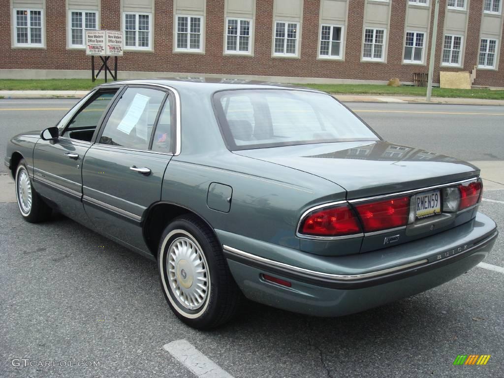
[[(389, 87), (375, 84), (299, 84), (302, 87), (318, 89), (335, 94), (369, 94), (396, 96), (425, 96), (427, 88), (401, 86)], [(504, 100), (504, 90), (491, 91), (489, 89), (449, 89), (432, 88), (432, 97), (483, 98)]]

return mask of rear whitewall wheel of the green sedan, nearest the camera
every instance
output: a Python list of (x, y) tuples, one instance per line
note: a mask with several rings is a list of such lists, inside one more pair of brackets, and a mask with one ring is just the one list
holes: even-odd
[(165, 228), (158, 270), (166, 301), (188, 326), (215, 328), (234, 316), (241, 293), (222, 246), (198, 217), (183, 215)]

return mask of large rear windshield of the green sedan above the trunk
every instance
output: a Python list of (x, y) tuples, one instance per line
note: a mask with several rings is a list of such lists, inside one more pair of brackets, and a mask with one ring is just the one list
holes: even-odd
[(214, 105), (231, 150), (379, 140), (358, 117), (324, 93), (231, 90), (216, 92)]

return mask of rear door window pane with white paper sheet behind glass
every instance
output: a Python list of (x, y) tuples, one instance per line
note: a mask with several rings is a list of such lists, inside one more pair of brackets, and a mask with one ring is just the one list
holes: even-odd
[(150, 88), (125, 90), (105, 124), (99, 143), (147, 150), (165, 95)]

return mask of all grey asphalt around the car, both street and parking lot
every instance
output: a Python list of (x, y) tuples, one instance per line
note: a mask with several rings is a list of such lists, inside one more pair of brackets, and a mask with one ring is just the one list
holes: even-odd
[[(73, 102), (0, 100), (0, 159), (8, 136), (54, 124)], [(350, 105), (388, 140), (504, 160), (499, 107)], [(468, 112), (478, 114), (458, 114)], [(0, 187), (8, 190), (12, 184)], [(480, 210), (504, 229), (504, 190), (484, 197)], [(247, 302), (228, 326), (201, 332), (171, 313), (153, 262), (62, 216), (24, 222), (15, 203), (0, 203), (0, 224), (0, 377), (194, 377), (163, 349), (181, 339), (235, 378), (504, 376), (500, 272), (476, 267), (428, 292), (337, 319)], [(502, 235), (485, 259), (497, 267), (504, 267)], [(459, 354), (491, 358), (485, 366), (454, 366)], [(24, 367), (13, 359), (100, 366)]]

